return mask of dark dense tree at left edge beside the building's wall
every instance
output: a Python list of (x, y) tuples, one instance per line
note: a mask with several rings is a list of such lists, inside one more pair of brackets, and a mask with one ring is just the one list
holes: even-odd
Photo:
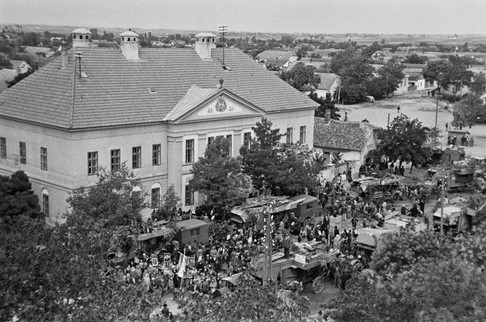
[(0, 176), (0, 216), (35, 215), (39, 210), (39, 197), (25, 172)]

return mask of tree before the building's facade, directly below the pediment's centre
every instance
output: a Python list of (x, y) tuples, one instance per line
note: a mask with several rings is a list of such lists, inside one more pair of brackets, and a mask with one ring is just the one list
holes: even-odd
[(231, 142), (216, 138), (208, 145), (204, 158), (192, 165), (189, 185), (204, 193), (208, 205), (230, 209), (241, 205), (248, 197), (251, 179), (242, 173), (241, 157), (229, 157)]

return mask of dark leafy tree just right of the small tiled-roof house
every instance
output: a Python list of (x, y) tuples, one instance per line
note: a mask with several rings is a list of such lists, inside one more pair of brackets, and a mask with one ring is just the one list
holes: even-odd
[(411, 120), (408, 116), (400, 114), (395, 117), (389, 129), (379, 129), (377, 137), (380, 140), (374, 155), (384, 155), (388, 161), (399, 160), (412, 162), (412, 168), (421, 164), (432, 155), (432, 149), (425, 143), (435, 132), (427, 127), (422, 127), (418, 119)]

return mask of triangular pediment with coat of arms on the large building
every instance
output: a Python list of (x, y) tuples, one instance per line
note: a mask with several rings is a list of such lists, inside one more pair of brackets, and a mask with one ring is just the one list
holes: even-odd
[(191, 88), (166, 119), (191, 122), (263, 115), (265, 111), (226, 89)]

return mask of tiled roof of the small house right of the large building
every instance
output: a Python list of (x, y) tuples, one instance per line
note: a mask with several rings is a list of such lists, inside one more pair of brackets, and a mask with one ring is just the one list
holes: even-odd
[(330, 120), (314, 117), (314, 146), (361, 151), (366, 140), (378, 127), (361, 122)]

